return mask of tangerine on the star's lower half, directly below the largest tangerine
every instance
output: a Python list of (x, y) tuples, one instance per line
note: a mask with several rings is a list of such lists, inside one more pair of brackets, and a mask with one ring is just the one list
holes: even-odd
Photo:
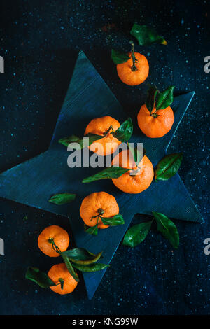
[[(118, 203), (113, 195), (106, 192), (95, 192), (87, 195), (80, 206), (80, 216), (87, 226), (109, 228), (102, 218), (110, 218), (119, 214)], [(102, 217), (102, 218), (101, 218)]]

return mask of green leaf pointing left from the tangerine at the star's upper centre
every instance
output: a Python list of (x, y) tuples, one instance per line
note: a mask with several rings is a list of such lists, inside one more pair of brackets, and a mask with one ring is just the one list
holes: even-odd
[[(84, 137), (89, 138), (89, 143), (87, 143), (87, 139), (84, 140)], [(81, 150), (81, 149), (85, 148), (86, 146), (89, 146), (90, 144), (92, 144), (94, 141), (104, 138), (104, 136), (90, 134), (90, 133), (85, 135), (84, 137), (81, 138), (81, 137), (72, 135), (69, 137), (64, 137), (62, 139), (59, 139), (58, 142), (64, 146), (69, 146), (69, 144), (71, 144), (71, 143), (77, 143), (78, 146), (74, 147), (74, 149)]]

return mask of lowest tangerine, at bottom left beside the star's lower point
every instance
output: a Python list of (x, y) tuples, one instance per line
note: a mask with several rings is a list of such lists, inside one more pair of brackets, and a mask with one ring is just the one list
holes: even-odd
[(59, 295), (66, 295), (78, 285), (78, 282), (73, 279), (64, 263), (53, 265), (48, 272), (49, 278), (55, 283), (55, 286), (50, 286), (50, 289)]

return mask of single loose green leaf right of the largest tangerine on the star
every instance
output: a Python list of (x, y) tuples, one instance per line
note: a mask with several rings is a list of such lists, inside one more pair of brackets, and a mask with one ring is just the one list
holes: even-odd
[(155, 167), (155, 181), (167, 181), (178, 172), (183, 159), (183, 153), (166, 155)]

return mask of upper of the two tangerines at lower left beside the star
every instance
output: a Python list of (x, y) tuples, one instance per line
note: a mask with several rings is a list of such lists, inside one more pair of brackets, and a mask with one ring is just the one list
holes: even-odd
[(49, 257), (59, 257), (59, 253), (52, 248), (52, 241), (61, 252), (69, 246), (69, 235), (58, 225), (50, 225), (38, 236), (38, 248)]

